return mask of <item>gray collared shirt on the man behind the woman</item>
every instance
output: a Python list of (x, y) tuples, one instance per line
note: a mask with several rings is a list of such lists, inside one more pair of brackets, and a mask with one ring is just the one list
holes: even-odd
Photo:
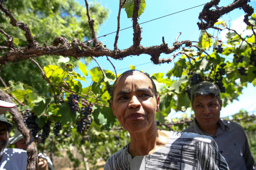
[(254, 160), (244, 129), (238, 123), (220, 119), (215, 135), (202, 131), (194, 119), (183, 132), (193, 132), (211, 136), (217, 143), (219, 152), (226, 159), (231, 170), (255, 170)]

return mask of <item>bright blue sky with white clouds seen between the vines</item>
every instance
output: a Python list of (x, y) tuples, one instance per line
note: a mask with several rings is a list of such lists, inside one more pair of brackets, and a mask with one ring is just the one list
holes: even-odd
[[(171, 0), (146, 0), (146, 8), (144, 13), (139, 17), (139, 23), (143, 23), (155, 18), (159, 18), (165, 15), (169, 15), (178, 11), (182, 11), (191, 7), (195, 7), (201, 4), (205, 4), (208, 1), (205, 0), (180, 0), (180, 1), (171, 1)], [(84, 0), (78, 0), (81, 5), (85, 5)], [(89, 1), (93, 2), (93, 1)], [(98, 32), (98, 37), (108, 34), (110, 32), (115, 32), (117, 29), (117, 14), (119, 9), (119, 1), (118, 0), (96, 0), (99, 2), (104, 8), (109, 9), (109, 16), (107, 21), (104, 22), (104, 25), (100, 27), (100, 31)], [(226, 6), (232, 3), (233, 0), (225, 0), (221, 1), (221, 6)], [(256, 7), (256, 0), (251, 0), (250, 5), (252, 7)], [(172, 46), (172, 43), (176, 39), (179, 32), (181, 35), (178, 41), (181, 40), (191, 40), (197, 41), (200, 36), (200, 31), (196, 23), (198, 22), (198, 15), (202, 11), (204, 5), (183, 11), (180, 13), (176, 13), (164, 18), (160, 18), (145, 24), (141, 24), (142, 33), (141, 33), (141, 45), (142, 46), (156, 46), (162, 44), (162, 37), (164, 37), (165, 43), (168, 43), (169, 46)], [(256, 11), (255, 11), (256, 12)], [(230, 14), (223, 16), (222, 20), (226, 21), (226, 24), (229, 26), (234, 25), (235, 28), (239, 28), (241, 32), (245, 29), (241, 24), (241, 16), (244, 15), (244, 11), (236, 9), (232, 11)], [(240, 17), (240, 20), (239, 20)], [(238, 21), (239, 20), (239, 21)], [(238, 25), (238, 26), (237, 26)], [(120, 16), (120, 29), (124, 29), (127, 27), (132, 26), (131, 18), (127, 18), (126, 12), (124, 9), (121, 11)], [(126, 49), (132, 46), (132, 28), (123, 30), (119, 32), (119, 39), (118, 39), (118, 48), (119, 49)], [(215, 32), (217, 35), (217, 33)], [(224, 40), (225, 32), (220, 32), (221, 38)], [(114, 41), (115, 41), (116, 33), (108, 35), (106, 37), (102, 37), (98, 39), (99, 41), (103, 42), (104, 45), (107, 46), (109, 49), (114, 49)], [(170, 55), (161, 54), (161, 58), (168, 58)], [(114, 68), (107, 61), (106, 57), (99, 57), (96, 59), (101, 67), (104, 69), (108, 69), (110, 71), (114, 71)], [(178, 57), (176, 58), (178, 60)], [(176, 61), (175, 60), (175, 61)], [(150, 62), (150, 56), (146, 54), (142, 54), (140, 56), (129, 56), (124, 58), (122, 61), (120, 60), (111, 60), (116, 67), (117, 74), (121, 74), (124, 71), (130, 69), (130, 65), (136, 66), (136, 69), (143, 70), (148, 74), (153, 73), (167, 73), (173, 66), (174, 62), (171, 64), (161, 64), (161, 65), (154, 65)], [(93, 61), (94, 62), (94, 61)], [(92, 67), (97, 66), (96, 63), (91, 63), (87, 68), (91, 69)], [(88, 79), (88, 81), (91, 81)], [(229, 115), (233, 115), (238, 112), (240, 109), (245, 109), (247, 111), (256, 110), (256, 100), (254, 99), (256, 96), (256, 88), (253, 87), (251, 84), (248, 85), (247, 89), (243, 90), (243, 95), (239, 96), (240, 101), (235, 101), (232, 104), (222, 108), (221, 110), (221, 117), (226, 117)], [(175, 113), (171, 112), (172, 118), (180, 117), (182, 113)]]

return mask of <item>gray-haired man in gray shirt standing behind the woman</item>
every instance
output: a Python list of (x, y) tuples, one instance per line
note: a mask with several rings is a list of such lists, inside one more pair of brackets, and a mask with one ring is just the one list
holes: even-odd
[(211, 136), (229, 169), (255, 170), (245, 132), (241, 125), (220, 119), (222, 101), (219, 87), (203, 81), (191, 89), (191, 105), (196, 118), (183, 132)]

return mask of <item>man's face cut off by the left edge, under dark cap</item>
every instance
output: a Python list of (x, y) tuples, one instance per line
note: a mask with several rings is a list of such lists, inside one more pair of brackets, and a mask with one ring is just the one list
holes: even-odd
[(8, 140), (7, 124), (0, 121), (0, 157), (3, 155), (4, 149), (8, 145)]

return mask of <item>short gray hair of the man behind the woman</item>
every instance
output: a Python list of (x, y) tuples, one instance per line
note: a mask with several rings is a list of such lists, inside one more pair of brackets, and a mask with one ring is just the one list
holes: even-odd
[(193, 104), (193, 101), (196, 96), (199, 95), (211, 95), (212, 97), (217, 97), (219, 102), (221, 101), (220, 99), (220, 89), (219, 87), (214, 84), (213, 82), (210, 81), (201, 81), (195, 86), (191, 88), (190, 91), (191, 94), (191, 103)]

